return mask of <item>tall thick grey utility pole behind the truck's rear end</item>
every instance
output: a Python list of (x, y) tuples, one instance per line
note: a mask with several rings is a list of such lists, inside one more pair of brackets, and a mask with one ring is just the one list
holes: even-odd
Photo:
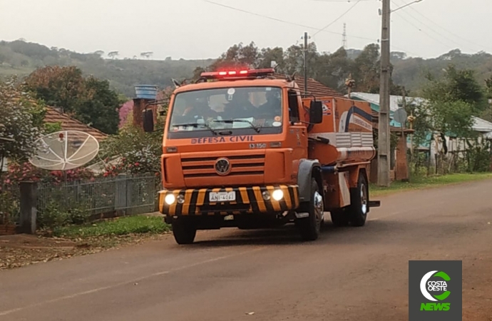
[(378, 120), (378, 173), (379, 186), (389, 186), (391, 148), (389, 128), (389, 26), (390, 0), (383, 0), (381, 29), (381, 83), (379, 86), (379, 120)]

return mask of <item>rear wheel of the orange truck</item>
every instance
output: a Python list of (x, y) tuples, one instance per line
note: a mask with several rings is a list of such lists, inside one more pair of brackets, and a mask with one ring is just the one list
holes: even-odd
[(367, 185), (366, 175), (359, 173), (357, 188), (350, 190), (350, 205), (348, 210), (349, 221), (352, 226), (364, 226), (369, 210), (369, 186)]

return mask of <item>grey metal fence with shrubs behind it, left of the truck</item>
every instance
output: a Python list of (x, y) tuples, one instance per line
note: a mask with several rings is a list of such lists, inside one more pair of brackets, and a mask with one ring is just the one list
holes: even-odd
[(153, 175), (118, 175), (93, 181), (40, 183), (36, 209), (39, 215), (73, 211), (91, 216), (150, 213), (156, 208), (156, 180)]

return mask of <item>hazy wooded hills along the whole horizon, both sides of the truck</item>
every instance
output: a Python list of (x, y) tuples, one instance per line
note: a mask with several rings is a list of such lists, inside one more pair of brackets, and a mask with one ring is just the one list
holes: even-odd
[[(285, 54), (294, 53), (295, 46), (285, 51)], [(241, 48), (241, 47), (239, 47)], [(247, 47), (245, 47), (247, 48)], [(227, 50), (227, 49), (225, 49)], [(266, 51), (265, 51), (266, 50)], [(264, 58), (267, 58), (268, 52), (275, 54), (276, 49), (262, 49)], [(315, 50), (315, 49), (314, 49)], [(267, 54), (265, 54), (267, 52)], [(280, 52), (283, 52), (280, 49)], [(347, 58), (349, 61), (354, 61), (363, 51), (357, 49), (347, 49)], [(324, 55), (324, 54), (319, 54)], [(153, 84), (160, 88), (172, 86), (172, 78), (182, 80), (191, 78), (193, 71), (197, 67), (210, 66), (215, 59), (205, 60), (171, 60), (155, 61), (147, 58), (138, 59), (108, 59), (103, 58), (105, 54), (98, 51), (93, 54), (79, 54), (66, 49), (48, 48), (40, 44), (28, 43), (22, 40), (0, 42), (0, 77), (1, 76), (27, 76), (34, 69), (46, 65), (59, 66), (77, 66), (81, 68), (86, 75), (93, 75), (97, 78), (108, 79), (113, 88), (131, 97), (134, 95), (133, 86), (139, 84)], [(106, 55), (107, 56), (107, 55)], [(295, 53), (294, 53), (295, 56)], [(272, 56), (275, 57), (275, 56)], [(270, 58), (272, 58), (270, 57)], [(255, 57), (257, 59), (258, 57)], [(294, 57), (295, 58), (295, 57)], [(294, 59), (297, 63), (299, 59)], [(299, 61), (302, 61), (299, 60)], [(286, 59), (288, 63), (289, 60)], [(321, 59), (319, 62), (324, 63)], [(333, 64), (341, 63), (340, 70), (347, 69), (349, 72), (350, 63), (343, 63), (343, 60), (334, 60), (326, 62), (330, 64), (329, 70), (336, 70)], [(434, 76), (439, 76), (443, 73), (443, 69), (453, 63), (457, 68), (470, 68), (476, 71), (478, 81), (483, 81), (492, 74), (492, 55), (480, 52), (478, 54), (468, 55), (462, 54), (458, 49), (450, 51), (447, 54), (437, 58), (407, 58), (406, 54), (401, 52), (391, 53), (391, 63), (394, 66), (393, 81), (396, 85), (405, 86), (410, 91), (418, 91), (426, 82), (426, 73), (432, 73)], [(347, 66), (346, 66), (347, 65)], [(327, 65), (328, 66), (328, 65)], [(293, 66), (294, 69), (299, 69), (302, 66)], [(319, 81), (326, 81), (327, 75), (324, 75), (324, 66), (312, 66), (314, 70), (318, 70), (322, 74)], [(347, 72), (339, 72), (344, 74)], [(319, 75), (318, 75), (319, 76)], [(328, 75), (328, 77), (333, 75)], [(344, 77), (337, 76), (338, 83), (344, 83)], [(326, 83), (333, 86), (332, 83)], [(339, 89), (339, 88), (338, 88)], [(357, 88), (356, 88), (357, 90)]]

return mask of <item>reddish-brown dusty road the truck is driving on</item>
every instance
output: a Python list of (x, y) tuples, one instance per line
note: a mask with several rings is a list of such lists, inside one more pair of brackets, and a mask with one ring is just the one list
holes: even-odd
[(463, 320), (492, 320), (492, 180), (381, 201), (314, 243), (207, 231), (6, 270), (0, 320), (407, 320), (408, 261), (443, 259), (463, 260)]

